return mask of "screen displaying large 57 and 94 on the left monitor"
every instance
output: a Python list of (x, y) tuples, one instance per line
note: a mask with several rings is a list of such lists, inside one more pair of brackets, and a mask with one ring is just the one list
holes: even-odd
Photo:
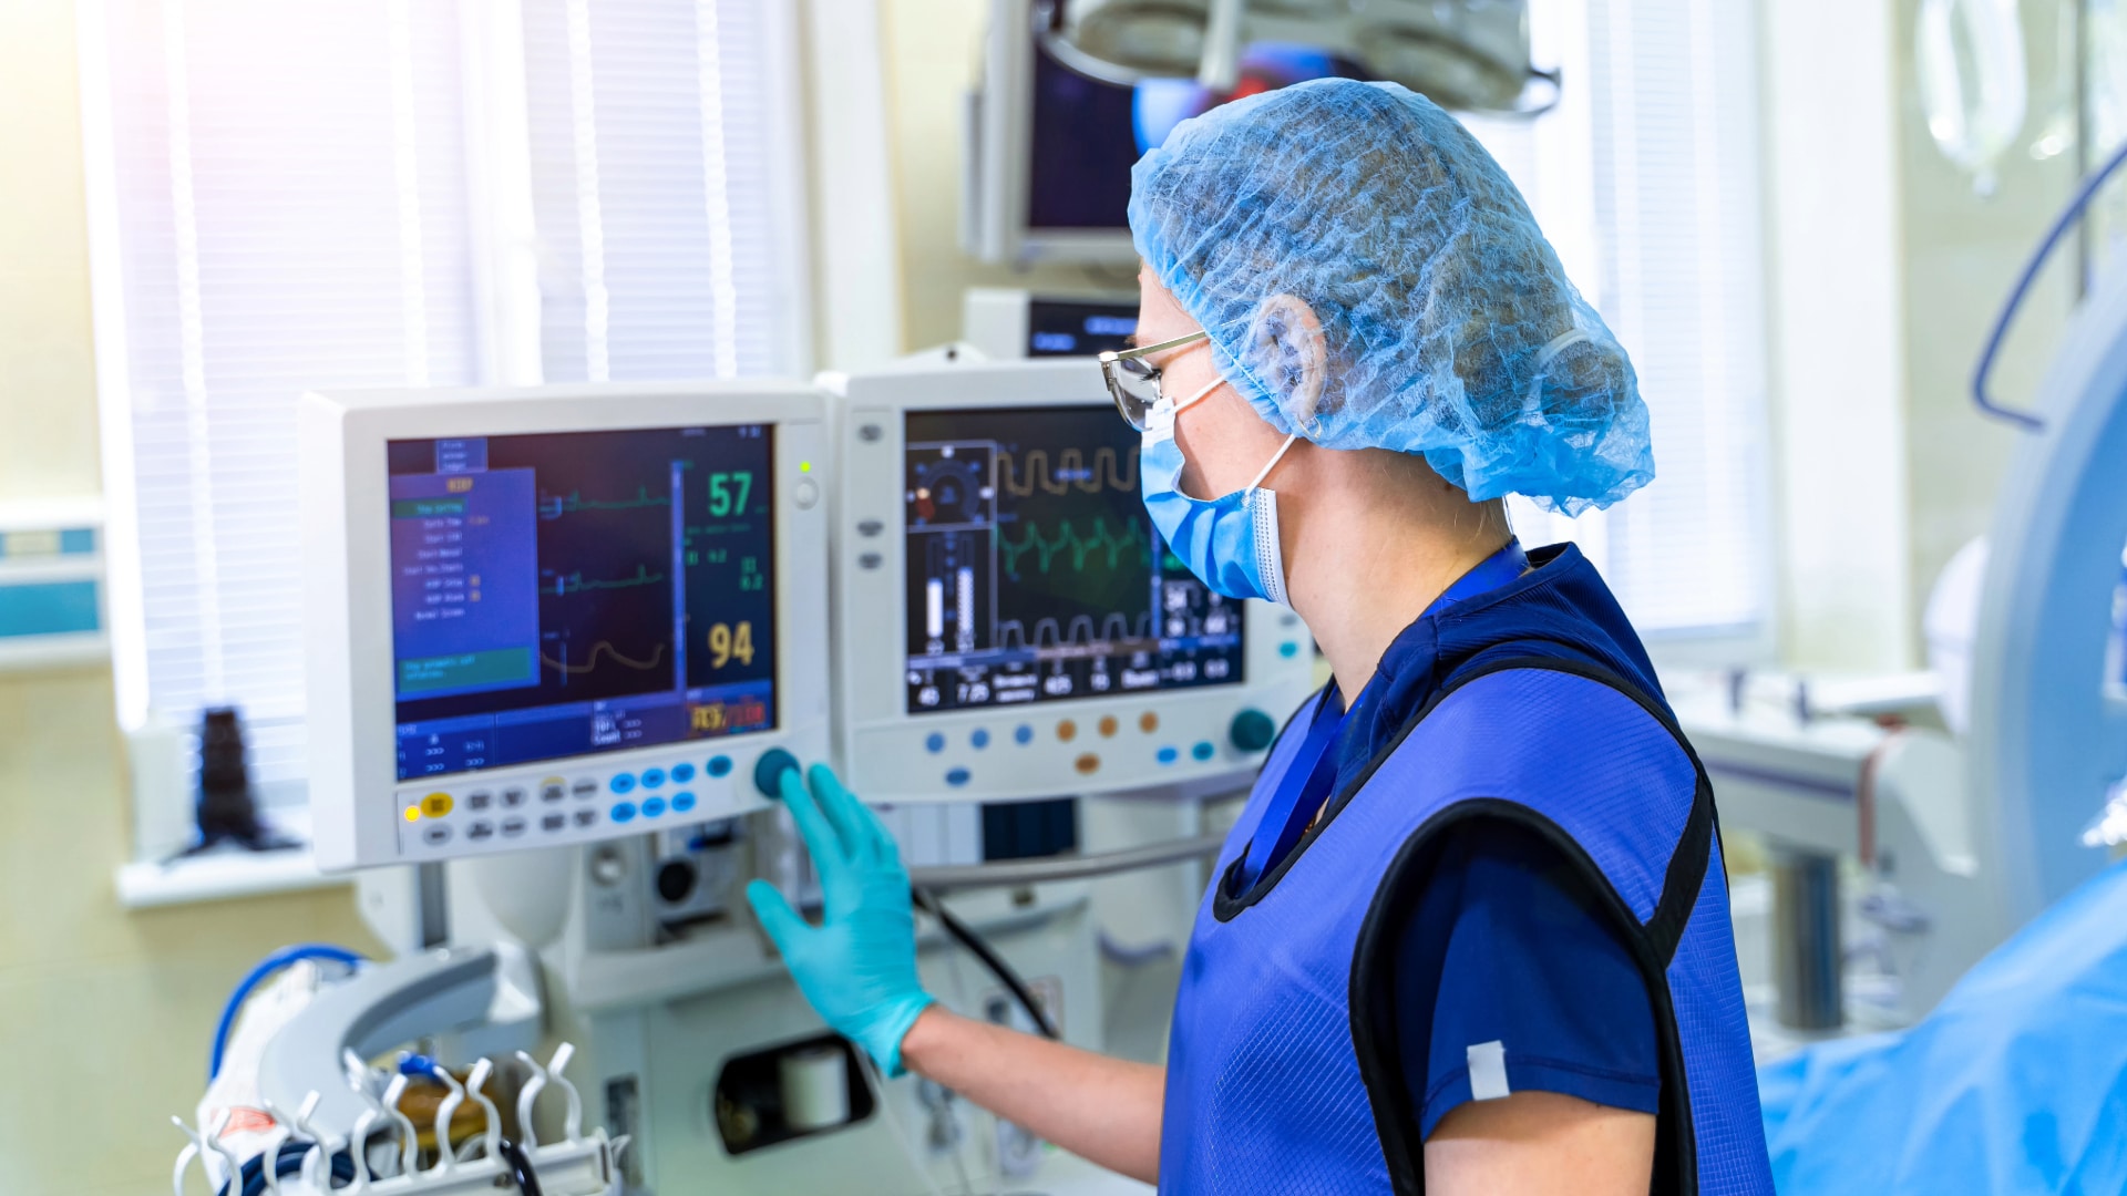
[(391, 441), (398, 777), (774, 728), (772, 445)]

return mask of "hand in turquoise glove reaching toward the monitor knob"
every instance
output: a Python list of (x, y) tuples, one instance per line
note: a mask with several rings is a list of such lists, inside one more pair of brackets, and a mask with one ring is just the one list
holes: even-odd
[(810, 794), (795, 768), (783, 773), (783, 804), (813, 851), (825, 919), (808, 924), (768, 881), (747, 885), (747, 900), (783, 951), (798, 992), (836, 1034), (895, 1077), (902, 1075), (902, 1036), (934, 1000), (917, 981), (908, 868), (887, 828), (832, 768), (815, 764), (808, 779)]

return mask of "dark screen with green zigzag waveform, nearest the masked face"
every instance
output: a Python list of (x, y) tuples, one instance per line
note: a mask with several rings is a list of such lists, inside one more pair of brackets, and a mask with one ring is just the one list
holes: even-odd
[(1242, 602), (1138, 498), (1108, 406), (906, 415), (908, 713), (1236, 685)]

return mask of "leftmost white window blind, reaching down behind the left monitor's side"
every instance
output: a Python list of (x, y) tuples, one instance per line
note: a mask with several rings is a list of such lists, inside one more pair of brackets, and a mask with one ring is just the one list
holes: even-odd
[[(472, 381), (457, 17), (108, 0), (108, 164), (140, 621), (121, 719), (238, 704), (302, 775), (296, 398)], [(106, 406), (108, 411), (108, 406)], [(106, 430), (106, 436), (111, 430)], [(123, 572), (121, 572), (123, 577)]]

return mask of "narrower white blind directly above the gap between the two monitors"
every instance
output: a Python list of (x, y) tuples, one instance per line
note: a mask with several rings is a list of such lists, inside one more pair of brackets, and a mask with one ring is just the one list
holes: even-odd
[(800, 370), (772, 11), (530, 0), (547, 381)]

